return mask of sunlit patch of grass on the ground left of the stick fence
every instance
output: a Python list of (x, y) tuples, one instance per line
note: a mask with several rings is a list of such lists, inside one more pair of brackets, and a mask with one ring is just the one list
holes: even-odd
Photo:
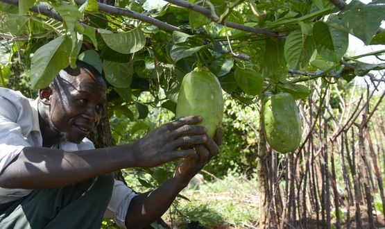
[(212, 183), (189, 187), (164, 216), (173, 228), (198, 224), (203, 228), (255, 228), (259, 201), (255, 179), (228, 176)]

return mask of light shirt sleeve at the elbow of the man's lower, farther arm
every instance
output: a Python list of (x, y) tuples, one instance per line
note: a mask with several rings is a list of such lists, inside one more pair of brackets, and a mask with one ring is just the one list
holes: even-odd
[(115, 180), (114, 189), (104, 217), (114, 219), (117, 225), (126, 228), (126, 214), (132, 198), (137, 194), (120, 180)]

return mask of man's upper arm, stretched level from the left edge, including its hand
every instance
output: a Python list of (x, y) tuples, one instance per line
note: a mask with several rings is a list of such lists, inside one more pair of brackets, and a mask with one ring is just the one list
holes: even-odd
[(155, 167), (194, 155), (192, 149), (206, 142), (205, 128), (191, 126), (200, 117), (184, 117), (161, 126), (133, 144), (105, 149), (67, 152), (25, 147), (0, 173), (0, 187), (37, 189), (69, 185), (128, 167)]

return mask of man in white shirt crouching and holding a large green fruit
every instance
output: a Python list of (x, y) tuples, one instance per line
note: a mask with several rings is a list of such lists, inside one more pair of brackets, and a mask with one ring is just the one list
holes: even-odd
[[(94, 149), (85, 138), (106, 103), (94, 67), (60, 71), (36, 100), (0, 88), (0, 228), (100, 228), (103, 217), (143, 228), (169, 208), (218, 152), (200, 117), (182, 117), (131, 144)], [(135, 194), (111, 173), (182, 158), (172, 178)]]

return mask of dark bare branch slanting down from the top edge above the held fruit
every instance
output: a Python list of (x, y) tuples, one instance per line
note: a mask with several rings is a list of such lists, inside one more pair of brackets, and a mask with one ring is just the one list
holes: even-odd
[[(198, 6), (194, 3), (188, 2), (188, 1), (183, 1), (183, 0), (165, 0), (168, 1), (169, 3), (172, 3), (176, 6), (181, 6), (183, 8), (187, 8), (189, 10), (193, 10), (195, 12), (199, 12), (200, 14), (204, 15), (208, 19), (210, 19), (212, 22), (219, 23), (212, 17), (212, 12), (210, 10), (207, 10), (207, 8), (204, 8), (203, 6)], [(237, 24), (234, 22), (228, 22), (228, 21), (223, 21), (219, 24), (222, 24), (224, 26), (228, 26), (230, 28), (237, 28), (240, 31), (246, 31), (250, 33), (259, 33), (262, 35), (266, 35), (267, 37), (280, 37), (280, 35), (277, 32), (274, 31), (267, 31), (263, 28), (255, 28), (255, 27), (250, 27), (250, 26), (243, 26), (241, 24)]]

